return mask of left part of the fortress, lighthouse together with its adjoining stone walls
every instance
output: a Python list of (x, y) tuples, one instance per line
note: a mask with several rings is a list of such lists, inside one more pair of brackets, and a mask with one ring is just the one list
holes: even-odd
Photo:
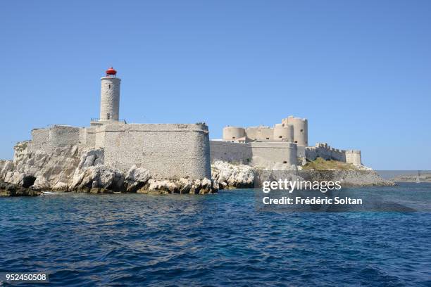
[[(120, 120), (120, 78), (110, 68), (101, 78), (100, 116), (89, 127), (33, 129), (30, 152), (61, 146), (104, 149), (104, 165), (127, 171), (144, 167), (155, 179), (211, 179), (208, 127), (204, 123), (127, 124)], [(15, 155), (17, 157), (19, 155)]]

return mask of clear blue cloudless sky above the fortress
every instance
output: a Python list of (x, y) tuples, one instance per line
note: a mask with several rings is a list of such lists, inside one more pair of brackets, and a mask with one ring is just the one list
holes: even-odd
[(35, 127), (99, 117), (100, 77), (127, 122), (273, 125), (431, 170), (431, 1), (2, 1), (0, 158)]

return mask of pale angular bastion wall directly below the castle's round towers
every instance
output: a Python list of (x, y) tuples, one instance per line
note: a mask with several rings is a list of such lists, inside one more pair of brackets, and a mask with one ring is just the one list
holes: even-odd
[(282, 162), (296, 165), (296, 144), (287, 142), (253, 142), (250, 143), (253, 161)]

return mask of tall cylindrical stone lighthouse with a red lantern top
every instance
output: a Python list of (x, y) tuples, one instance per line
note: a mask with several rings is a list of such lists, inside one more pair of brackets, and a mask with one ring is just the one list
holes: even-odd
[(100, 121), (118, 121), (120, 116), (120, 82), (112, 67), (101, 78)]

